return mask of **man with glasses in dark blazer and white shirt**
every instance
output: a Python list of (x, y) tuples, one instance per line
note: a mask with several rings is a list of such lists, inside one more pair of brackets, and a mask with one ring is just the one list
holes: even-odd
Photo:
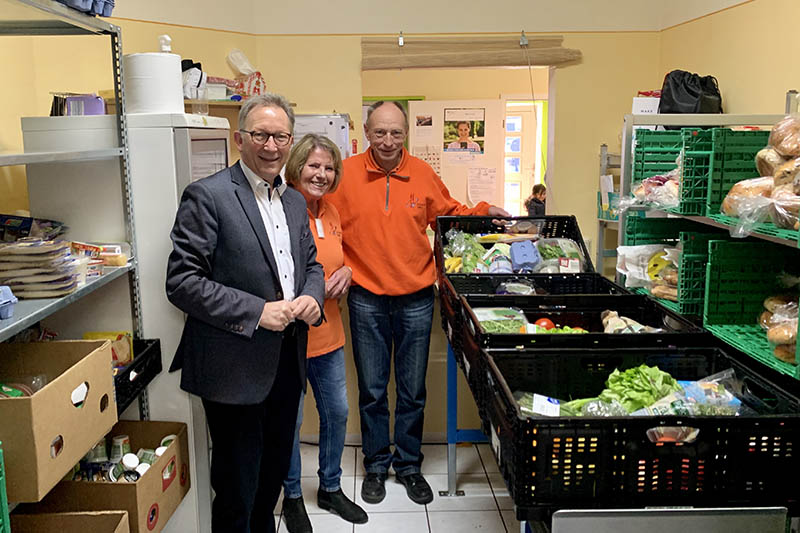
[(187, 318), (170, 371), (205, 408), (215, 533), (275, 531), (308, 326), (323, 319), (306, 203), (280, 176), (293, 129), (282, 96), (245, 102), (241, 160), (186, 188), (171, 234), (167, 297)]

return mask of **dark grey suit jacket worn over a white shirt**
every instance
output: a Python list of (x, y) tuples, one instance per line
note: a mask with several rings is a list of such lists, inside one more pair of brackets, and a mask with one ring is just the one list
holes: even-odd
[[(322, 310), (325, 281), (306, 202), (282, 196), (294, 259), (295, 294)], [(212, 401), (255, 404), (275, 381), (282, 332), (257, 328), (264, 303), (283, 299), (278, 268), (253, 190), (240, 163), (186, 187), (172, 228), (167, 298), (188, 316), (170, 372), (181, 388)], [(320, 319), (321, 321), (322, 319)], [(296, 321), (305, 386), (308, 326)]]

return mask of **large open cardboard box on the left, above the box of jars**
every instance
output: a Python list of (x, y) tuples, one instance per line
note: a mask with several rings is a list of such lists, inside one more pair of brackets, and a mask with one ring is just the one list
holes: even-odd
[[(0, 379), (47, 376), (33, 396), (0, 399), (8, 501), (41, 500), (117, 421), (111, 343), (0, 344)], [(72, 394), (88, 386), (85, 401)]]

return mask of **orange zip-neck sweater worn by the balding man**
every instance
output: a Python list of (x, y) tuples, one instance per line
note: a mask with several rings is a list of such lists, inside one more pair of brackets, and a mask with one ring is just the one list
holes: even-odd
[(326, 199), (339, 211), (353, 284), (389, 296), (433, 285), (433, 251), (425, 230), (436, 227), (437, 216), (489, 212), (486, 202), (470, 208), (454, 200), (430, 165), (405, 149), (388, 173), (372, 150), (347, 158), (339, 188)]

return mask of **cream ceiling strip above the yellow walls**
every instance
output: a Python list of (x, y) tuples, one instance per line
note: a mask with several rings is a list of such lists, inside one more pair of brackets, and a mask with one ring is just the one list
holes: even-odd
[(658, 31), (743, 3), (747, 2), (117, 0), (114, 16), (255, 34)]

